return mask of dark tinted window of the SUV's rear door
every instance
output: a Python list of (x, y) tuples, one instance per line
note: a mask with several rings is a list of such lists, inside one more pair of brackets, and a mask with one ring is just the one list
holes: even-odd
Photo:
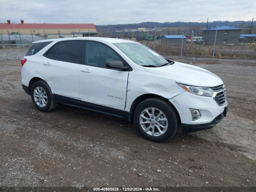
[(82, 41), (62, 41), (58, 44), (57, 60), (73, 63), (79, 62)]

